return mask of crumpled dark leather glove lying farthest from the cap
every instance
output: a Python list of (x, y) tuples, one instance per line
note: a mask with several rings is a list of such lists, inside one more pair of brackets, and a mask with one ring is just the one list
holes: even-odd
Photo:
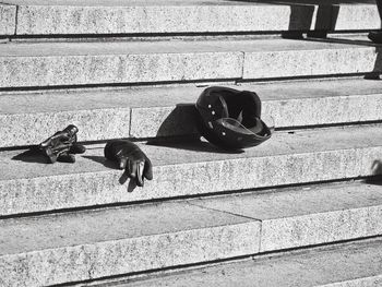
[(73, 154), (85, 153), (85, 146), (77, 144), (76, 133), (79, 129), (70, 124), (62, 131), (56, 132), (38, 145), (39, 151), (48, 158), (48, 163), (55, 164), (57, 160), (62, 163), (74, 163)]

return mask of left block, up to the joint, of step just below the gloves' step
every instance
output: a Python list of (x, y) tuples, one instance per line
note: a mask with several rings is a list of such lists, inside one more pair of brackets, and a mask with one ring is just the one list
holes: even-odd
[(179, 202), (4, 219), (0, 285), (47, 286), (255, 253), (259, 232), (255, 220)]

